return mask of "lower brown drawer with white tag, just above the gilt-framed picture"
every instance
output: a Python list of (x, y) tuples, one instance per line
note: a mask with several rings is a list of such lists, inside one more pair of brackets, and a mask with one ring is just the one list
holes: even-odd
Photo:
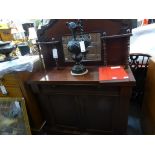
[(0, 92), (0, 97), (23, 97), (22, 92), (19, 87), (6, 87), (8, 92), (7, 95), (3, 95)]

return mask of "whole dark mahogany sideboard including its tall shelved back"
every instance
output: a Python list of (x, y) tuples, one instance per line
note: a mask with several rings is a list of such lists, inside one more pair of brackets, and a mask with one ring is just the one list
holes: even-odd
[[(90, 58), (83, 61), (89, 72), (72, 76), (68, 62), (66, 36), (71, 36), (66, 22), (77, 19), (50, 20), (38, 30), (38, 47), (44, 71), (27, 81), (49, 134), (125, 134), (128, 107), (135, 79), (128, 67), (131, 20), (84, 19), (84, 33), (93, 39)], [(52, 55), (57, 48), (58, 59)], [(88, 53), (89, 54), (89, 53)], [(87, 55), (88, 55), (87, 54)], [(99, 58), (95, 58), (95, 55)], [(99, 66), (122, 65), (129, 79), (99, 81)]]

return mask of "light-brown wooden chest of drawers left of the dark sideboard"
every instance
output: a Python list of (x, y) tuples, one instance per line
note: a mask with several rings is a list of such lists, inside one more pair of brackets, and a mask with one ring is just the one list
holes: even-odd
[[(8, 63), (13, 64), (13, 62), (8, 62)], [(2, 66), (3, 63), (1, 63), (0, 65)], [(15, 66), (12, 66), (12, 69), (13, 69), (12, 72), (10, 68), (9, 69), (3, 68), (3, 70), (0, 70), (0, 72), (3, 75), (0, 77), (0, 84), (4, 85), (7, 90), (7, 94), (2, 94), (2, 92), (0, 92), (0, 98), (24, 97), (28, 116), (29, 116), (31, 130), (40, 131), (44, 123), (44, 120), (40, 114), (37, 101), (33, 96), (31, 89), (29, 88), (28, 85), (26, 85), (26, 81), (31, 76), (31, 74), (40, 70), (39, 59), (34, 62), (32, 72), (28, 72), (26, 70), (19, 71), (19, 72), (17, 70), (15, 72), (14, 67)], [(18, 67), (16, 66), (15, 69), (18, 69)]]

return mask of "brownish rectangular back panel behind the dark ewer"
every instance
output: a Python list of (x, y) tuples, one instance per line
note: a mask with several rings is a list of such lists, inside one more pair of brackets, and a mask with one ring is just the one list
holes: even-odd
[[(84, 37), (89, 37), (91, 39), (91, 45), (88, 46), (87, 54), (85, 54), (83, 61), (100, 61), (101, 60), (101, 34), (100, 33), (87, 33), (83, 34)], [(68, 52), (67, 44), (68, 41), (72, 39), (72, 36), (63, 36), (62, 37), (62, 44), (63, 44), (63, 51), (65, 62), (73, 62), (72, 55)], [(77, 39), (81, 39), (80, 35), (77, 35)]]

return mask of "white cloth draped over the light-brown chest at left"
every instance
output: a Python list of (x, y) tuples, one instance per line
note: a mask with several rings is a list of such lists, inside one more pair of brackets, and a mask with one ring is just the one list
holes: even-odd
[(18, 59), (0, 63), (0, 77), (13, 71), (33, 71), (34, 63), (39, 56), (19, 56)]

